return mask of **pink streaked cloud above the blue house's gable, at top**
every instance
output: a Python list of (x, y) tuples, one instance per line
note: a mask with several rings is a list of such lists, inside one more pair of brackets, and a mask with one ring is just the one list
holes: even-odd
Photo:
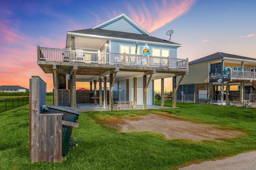
[(153, 9), (148, 8), (146, 4), (142, 4), (136, 8), (140, 8), (139, 12), (135, 11), (134, 6), (130, 4), (127, 4), (127, 8), (130, 14), (132, 14), (132, 20), (146, 31), (153, 32), (166, 25), (166, 23), (186, 14), (195, 2), (196, 0), (154, 1)]

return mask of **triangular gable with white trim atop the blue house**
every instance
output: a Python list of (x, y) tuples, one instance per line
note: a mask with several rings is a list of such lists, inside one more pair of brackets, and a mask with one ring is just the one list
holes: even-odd
[(150, 33), (148, 33), (146, 30), (140, 27), (137, 23), (135, 23), (125, 14), (121, 14), (119, 16), (116, 16), (115, 18), (112, 18), (99, 25), (96, 25), (95, 27), (92, 27), (92, 29), (106, 29), (112, 31), (121, 31), (151, 36)]

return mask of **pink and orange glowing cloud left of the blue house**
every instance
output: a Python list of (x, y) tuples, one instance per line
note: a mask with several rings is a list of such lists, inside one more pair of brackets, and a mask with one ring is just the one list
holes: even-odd
[(31, 76), (40, 76), (47, 83), (47, 91), (52, 91), (52, 74), (45, 74), (38, 66), (33, 38), (17, 32), (0, 23), (0, 86), (29, 88)]

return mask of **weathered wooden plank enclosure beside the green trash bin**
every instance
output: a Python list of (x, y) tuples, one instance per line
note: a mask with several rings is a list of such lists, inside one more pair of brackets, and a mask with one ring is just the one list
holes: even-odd
[(62, 113), (42, 114), (46, 83), (30, 79), (29, 156), (31, 162), (62, 162)]

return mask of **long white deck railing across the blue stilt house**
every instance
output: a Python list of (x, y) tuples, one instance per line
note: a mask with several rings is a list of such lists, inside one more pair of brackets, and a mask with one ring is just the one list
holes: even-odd
[(152, 57), (100, 51), (80, 51), (71, 49), (52, 49), (38, 46), (38, 61), (82, 62), (92, 64), (117, 64), (124, 66), (146, 66), (162, 68), (188, 68), (187, 59)]

